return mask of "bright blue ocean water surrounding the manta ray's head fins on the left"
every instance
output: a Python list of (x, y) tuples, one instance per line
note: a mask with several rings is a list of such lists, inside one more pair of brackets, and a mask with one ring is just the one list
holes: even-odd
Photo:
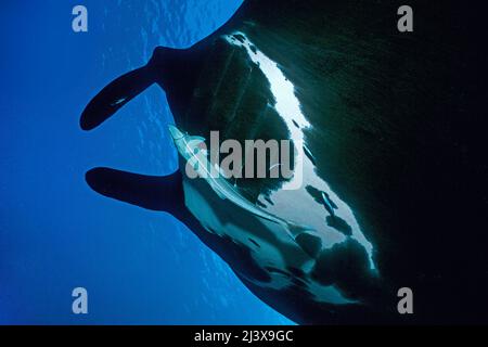
[[(88, 9), (88, 33), (72, 30), (76, 4)], [(79, 129), (79, 115), (154, 47), (189, 47), (240, 4), (2, 1), (0, 323), (291, 323), (175, 218), (100, 196), (84, 179), (97, 166), (176, 169), (158, 87), (92, 132)], [(77, 286), (88, 290), (86, 316), (72, 313)]]

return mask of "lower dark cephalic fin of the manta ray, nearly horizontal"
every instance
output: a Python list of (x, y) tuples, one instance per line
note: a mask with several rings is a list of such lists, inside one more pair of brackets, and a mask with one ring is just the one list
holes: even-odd
[(181, 172), (157, 177), (94, 168), (86, 174), (95, 192), (146, 209), (178, 213), (184, 201)]

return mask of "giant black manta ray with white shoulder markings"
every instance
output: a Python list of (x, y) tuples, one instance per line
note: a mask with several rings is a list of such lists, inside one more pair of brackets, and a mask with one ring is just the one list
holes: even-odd
[[(80, 125), (98, 127), (157, 83), (175, 116), (180, 170), (149, 177), (94, 168), (88, 184), (171, 214), (255, 295), (298, 323), (480, 317), (457, 296), (478, 297), (487, 273), (480, 249), (463, 235), (467, 229), (479, 236), (470, 224), (476, 207), (466, 206), (467, 174), (459, 168), (468, 166), (458, 127), (471, 59), (462, 53), (465, 33), (442, 39), (454, 35), (446, 23), (459, 30), (452, 9), (411, 1), (419, 34), (401, 34), (399, 5), (246, 0), (193, 47), (156, 48), (145, 66), (88, 104)], [(433, 23), (422, 20), (428, 16)], [(221, 140), (303, 146), (300, 187), (285, 189), (294, 177), (242, 178), (218, 189), (189, 179), (181, 141), (207, 141), (213, 130)], [(403, 286), (415, 295), (408, 318), (397, 311)]]

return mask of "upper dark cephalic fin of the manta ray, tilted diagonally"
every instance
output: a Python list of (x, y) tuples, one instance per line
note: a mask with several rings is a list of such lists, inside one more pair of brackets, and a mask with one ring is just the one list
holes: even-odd
[(102, 89), (87, 105), (80, 118), (84, 130), (91, 130), (155, 82), (149, 66), (127, 73)]

